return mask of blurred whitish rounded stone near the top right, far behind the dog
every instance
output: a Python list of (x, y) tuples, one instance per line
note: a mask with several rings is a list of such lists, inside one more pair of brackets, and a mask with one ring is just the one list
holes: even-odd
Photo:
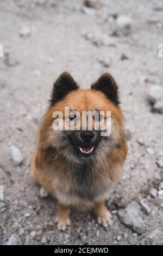
[(118, 16), (116, 19), (116, 25), (118, 34), (128, 35), (131, 31), (131, 19), (126, 15)]

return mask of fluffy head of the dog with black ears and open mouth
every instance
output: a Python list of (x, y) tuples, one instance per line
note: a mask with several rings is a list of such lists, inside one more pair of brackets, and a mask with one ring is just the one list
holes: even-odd
[[(102, 159), (120, 143), (123, 115), (119, 103), (118, 87), (110, 74), (99, 77), (90, 89), (80, 89), (72, 76), (64, 72), (54, 82), (50, 105), (40, 127), (43, 147), (54, 148), (68, 161)], [(109, 135), (102, 136), (102, 131), (107, 130), (108, 112)], [(92, 113), (92, 117), (87, 113)]]

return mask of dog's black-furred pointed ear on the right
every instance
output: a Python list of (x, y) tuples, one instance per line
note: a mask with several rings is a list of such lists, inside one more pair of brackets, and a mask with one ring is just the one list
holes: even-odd
[(91, 89), (101, 91), (115, 105), (120, 103), (118, 97), (118, 86), (114, 78), (109, 73), (105, 73), (99, 77), (98, 80), (91, 85)]

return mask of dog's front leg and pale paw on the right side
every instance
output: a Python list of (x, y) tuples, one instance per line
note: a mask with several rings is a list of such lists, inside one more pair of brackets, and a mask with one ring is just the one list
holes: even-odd
[(108, 225), (112, 224), (111, 214), (105, 206), (105, 201), (96, 203), (94, 209), (98, 224), (103, 225), (103, 227), (108, 227)]

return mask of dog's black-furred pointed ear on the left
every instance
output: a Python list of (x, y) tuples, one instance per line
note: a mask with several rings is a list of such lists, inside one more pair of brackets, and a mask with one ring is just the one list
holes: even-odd
[(50, 106), (53, 106), (58, 101), (64, 99), (68, 93), (77, 90), (78, 88), (78, 84), (68, 72), (62, 73), (53, 84), (51, 99), (49, 101)]

